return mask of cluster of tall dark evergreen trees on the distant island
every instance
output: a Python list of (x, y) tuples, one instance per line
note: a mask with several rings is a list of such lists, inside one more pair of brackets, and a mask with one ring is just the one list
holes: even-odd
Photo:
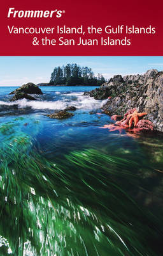
[(80, 67), (76, 63), (67, 64), (62, 67), (55, 67), (50, 77), (50, 85), (89, 85), (100, 86), (106, 80), (102, 74), (94, 76), (92, 69), (89, 67)]

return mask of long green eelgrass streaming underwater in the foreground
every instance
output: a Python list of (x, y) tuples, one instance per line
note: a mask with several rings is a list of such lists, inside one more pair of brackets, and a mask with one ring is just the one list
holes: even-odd
[(3, 125), (0, 255), (161, 255), (162, 221), (132, 195), (141, 164), (94, 149), (46, 159)]

